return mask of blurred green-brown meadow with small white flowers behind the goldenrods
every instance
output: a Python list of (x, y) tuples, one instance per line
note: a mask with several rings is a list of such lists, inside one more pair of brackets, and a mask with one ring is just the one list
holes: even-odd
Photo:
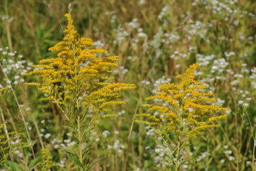
[(95, 135), (102, 137), (90, 155), (104, 158), (92, 170), (166, 170), (168, 150), (152, 129), (133, 124), (133, 115), (143, 112), (138, 105), (161, 83), (175, 82), (174, 76), (196, 61), (197, 78), (231, 112), (219, 128), (191, 141), (184, 156), (193, 160), (183, 170), (253, 170), (256, 1), (0, 0), (0, 61), (9, 77), (0, 71), (0, 85), (8, 87), (11, 81), (22, 108), (9, 90), (0, 96), (2, 118), (10, 123), (9, 129), (26, 133), (20, 122), (23, 112), (36, 140), (35, 153), (42, 147), (40, 137), (55, 162), (75, 170), (75, 164), (60, 155), (59, 147), (72, 147), (69, 133), (61, 127), (65, 118), (53, 103), (38, 100), (43, 94), (36, 88), (24, 85), (36, 77), (21, 75), (38, 59), (54, 55), (48, 48), (63, 38), (65, 13), (72, 14), (81, 36), (119, 55), (117, 81), (137, 84), (136, 90), (123, 94), (127, 105), (115, 109), (120, 116), (100, 123)]

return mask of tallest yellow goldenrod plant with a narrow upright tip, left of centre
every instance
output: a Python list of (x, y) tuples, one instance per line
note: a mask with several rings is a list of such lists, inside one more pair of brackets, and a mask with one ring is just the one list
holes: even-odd
[(111, 77), (112, 67), (117, 67), (117, 56), (107, 57), (102, 48), (94, 48), (90, 38), (81, 38), (69, 13), (65, 14), (68, 24), (61, 42), (49, 48), (58, 52), (57, 57), (41, 59), (33, 65), (34, 71), (27, 75), (38, 75), (42, 83), (38, 86), (45, 98), (51, 100), (65, 114), (75, 133), (78, 150), (65, 149), (73, 156), (80, 170), (90, 168), (88, 153), (92, 142), (92, 129), (100, 118), (113, 117), (114, 104), (125, 104), (119, 100), (119, 92), (135, 88), (131, 83), (115, 83)]

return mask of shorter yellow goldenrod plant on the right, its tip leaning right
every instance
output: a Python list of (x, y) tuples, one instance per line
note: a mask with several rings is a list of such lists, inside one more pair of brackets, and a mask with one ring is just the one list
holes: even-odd
[(183, 75), (177, 75), (180, 83), (162, 84), (160, 91), (146, 98), (153, 103), (141, 105), (147, 107), (148, 112), (136, 115), (138, 123), (152, 127), (164, 139), (170, 149), (172, 170), (179, 170), (185, 162), (182, 153), (190, 139), (205, 129), (218, 127), (216, 121), (227, 116), (216, 114), (228, 108), (215, 105), (214, 94), (195, 80), (197, 67), (195, 63)]

